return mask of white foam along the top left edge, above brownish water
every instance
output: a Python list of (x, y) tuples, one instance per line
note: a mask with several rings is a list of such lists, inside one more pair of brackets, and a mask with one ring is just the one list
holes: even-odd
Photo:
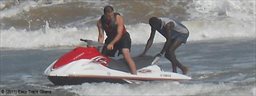
[[(16, 16), (23, 12), (28, 12), (33, 8), (38, 8), (42, 6), (54, 6), (57, 4), (63, 4), (68, 2), (87, 2), (94, 5), (95, 8), (108, 5), (108, 1), (92, 1), (92, 0), (3, 0), (0, 1), (0, 19), (6, 17)], [(11, 6), (11, 8), (6, 8)]]

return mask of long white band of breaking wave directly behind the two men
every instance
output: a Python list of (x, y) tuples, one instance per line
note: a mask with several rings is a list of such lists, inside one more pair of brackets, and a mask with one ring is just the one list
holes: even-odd
[[(219, 38), (255, 38), (255, 28), (252, 25), (235, 21), (188, 21), (184, 24), (190, 30), (188, 41), (209, 40)], [(244, 25), (245, 24), (245, 25)], [(150, 26), (139, 23), (127, 25), (131, 35), (132, 44), (145, 44), (150, 35)], [(40, 48), (58, 46), (76, 46), (80, 38), (97, 41), (98, 30), (96, 26), (83, 28), (66, 27), (27, 31), (10, 28), (1, 30), (0, 47), (7, 48)], [(165, 42), (163, 36), (156, 33), (156, 43)]]

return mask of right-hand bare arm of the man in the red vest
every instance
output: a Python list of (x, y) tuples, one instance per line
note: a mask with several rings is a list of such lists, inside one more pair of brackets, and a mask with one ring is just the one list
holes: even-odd
[(116, 37), (108, 44), (108, 49), (112, 50), (114, 48), (114, 45), (116, 44), (116, 42), (118, 42), (123, 33), (123, 28), (124, 28), (124, 20), (122, 16), (117, 15), (116, 16), (116, 22), (117, 22), (117, 35)]

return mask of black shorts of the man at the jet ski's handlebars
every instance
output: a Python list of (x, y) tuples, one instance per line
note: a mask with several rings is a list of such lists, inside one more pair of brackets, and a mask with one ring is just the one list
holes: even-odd
[(122, 38), (114, 45), (113, 50), (107, 50), (107, 45), (113, 40), (114, 38), (107, 38), (105, 40), (105, 45), (103, 46), (102, 49), (102, 54), (110, 57), (115, 57), (115, 54), (117, 51), (118, 55), (122, 54), (122, 49), (123, 48), (128, 48), (129, 50), (131, 49), (131, 38), (130, 34), (128, 32), (125, 32)]

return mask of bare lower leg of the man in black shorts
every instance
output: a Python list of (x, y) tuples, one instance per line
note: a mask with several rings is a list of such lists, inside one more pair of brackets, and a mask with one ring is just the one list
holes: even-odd
[(128, 65), (130, 67), (131, 73), (137, 74), (136, 65), (131, 57), (129, 48), (123, 48), (122, 53), (123, 53), (125, 61), (128, 63)]

